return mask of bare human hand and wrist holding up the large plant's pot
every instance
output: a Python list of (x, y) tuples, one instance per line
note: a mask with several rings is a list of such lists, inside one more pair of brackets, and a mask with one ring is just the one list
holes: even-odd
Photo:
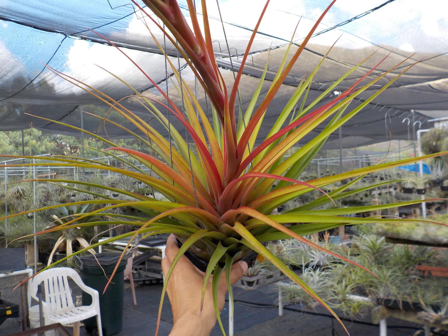
[[(176, 237), (168, 237), (165, 257), (162, 259), (162, 271), (166, 277), (169, 267), (179, 251)], [(234, 284), (247, 271), (247, 264), (238, 261), (232, 265), (230, 283)], [(199, 271), (187, 257), (182, 256), (171, 273), (167, 284), (167, 293), (171, 302), (174, 325), (170, 336), (208, 336), (216, 323), (215, 307), (211, 293), (210, 277), (201, 309), (202, 285), (205, 273)], [(220, 312), (224, 308), (227, 283), (225, 272), (221, 275), (218, 289), (218, 306)]]

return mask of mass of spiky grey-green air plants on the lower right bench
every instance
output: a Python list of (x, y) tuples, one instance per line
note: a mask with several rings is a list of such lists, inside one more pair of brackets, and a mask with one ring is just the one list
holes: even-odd
[[(282, 244), (288, 246), (285, 242)], [(354, 317), (366, 314), (366, 308), (374, 306), (377, 299), (379, 302), (392, 299), (422, 303), (428, 307), (444, 306), (448, 279), (422, 278), (415, 268), (419, 264), (437, 263), (441, 256), (436, 250), (424, 246), (388, 244), (383, 237), (368, 233), (353, 237), (350, 247), (333, 246), (331, 249), (352, 258), (378, 276), (335, 260), (318, 268), (304, 268), (303, 279), (310, 277), (307, 281), (311, 281), (319, 295), (332, 308), (342, 310), (345, 315)], [(289, 254), (293, 253), (289, 251)], [(297, 254), (302, 255), (302, 251), (297, 249)], [(320, 283), (313, 283), (317, 278)], [(281, 289), (286, 302), (309, 303), (309, 298), (297, 285), (289, 284), (281, 286)]]

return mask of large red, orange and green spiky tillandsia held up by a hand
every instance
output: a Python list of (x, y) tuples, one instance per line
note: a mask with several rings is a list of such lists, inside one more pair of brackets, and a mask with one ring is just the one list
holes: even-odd
[[(363, 102), (355, 107), (350, 106), (350, 102), (363, 93), (368, 95), (368, 88), (375, 85), (379, 80), (385, 80), (386, 76), (392, 71), (401, 68), (402, 63), (396, 65), (388, 71), (378, 72), (375, 70), (383, 60), (375, 65), (369, 71), (366, 71), (362, 78), (359, 78), (343, 92), (340, 92), (333, 100), (318, 107), (324, 98), (336, 90), (336, 86), (342, 80), (348, 78), (350, 74), (362, 66), (369, 58), (356, 65), (353, 69), (345, 73), (339, 80), (330, 85), (327, 90), (312, 102), (305, 100), (308, 96), (311, 84), (319, 67), (325, 61), (324, 56), (317, 67), (303, 76), (302, 81), (297, 84), (297, 88), (291, 95), (289, 101), (284, 106), (278, 119), (269, 122), (270, 132), (266, 138), (257, 143), (258, 132), (263, 125), (266, 127), (267, 121), (263, 118), (271, 102), (276, 99), (276, 94), (280, 86), (288, 76), (295, 62), (304, 50), (306, 43), (310, 40), (312, 34), (318, 27), (323, 16), (330, 9), (333, 1), (324, 13), (319, 17), (313, 28), (307, 34), (306, 38), (300, 44), (296, 51), (292, 49), (292, 40), (289, 43), (287, 52), (281, 61), (280, 67), (271, 86), (265, 95), (261, 94), (262, 83), (264, 82), (267, 66), (264, 70), (260, 84), (249, 104), (249, 107), (243, 111), (238, 106), (237, 94), (240, 85), (246, 60), (249, 51), (254, 42), (258, 26), (262, 20), (263, 14), (267, 9), (266, 4), (259, 20), (251, 35), (244, 55), (241, 57), (241, 66), (235, 75), (231, 90), (227, 89), (224, 78), (218, 68), (215, 55), (212, 48), (211, 32), (207, 17), (206, 1), (202, 1), (202, 26), (199, 24), (198, 15), (195, 12), (192, 0), (187, 0), (190, 12), (192, 28), (187, 24), (181, 9), (175, 0), (143, 0), (147, 8), (141, 8), (143, 12), (150, 9), (160, 20), (153, 19), (150, 13), (146, 15), (153, 20), (154, 24), (162, 30), (167, 39), (169, 39), (177, 48), (179, 54), (190, 66), (198, 83), (205, 90), (207, 99), (212, 105), (212, 120), (207, 118), (207, 113), (199, 104), (193, 90), (186, 85), (177, 67), (173, 65), (168, 57), (166, 61), (171, 66), (174, 78), (172, 81), (179, 92), (183, 105), (176, 106), (157, 83), (149, 76), (146, 77), (159, 91), (164, 101), (156, 101), (139, 94), (136, 90), (135, 97), (142, 105), (146, 106), (148, 114), (151, 114), (158, 120), (170, 133), (170, 139), (166, 139), (159, 134), (151, 125), (142, 120), (138, 115), (125, 108), (120, 101), (116, 101), (108, 95), (95, 90), (94, 87), (78, 81), (76, 78), (69, 77), (60, 73), (56, 69), (51, 69), (57, 75), (65, 78), (78, 87), (83, 88), (91, 95), (98, 97), (100, 101), (110, 106), (111, 111), (116, 111), (125, 120), (129, 121), (139, 133), (134, 133), (125, 126), (108, 118), (104, 123), (111, 123), (121, 127), (129, 134), (141, 140), (142, 144), (150, 149), (150, 153), (145, 154), (140, 151), (117, 147), (108, 139), (100, 138), (98, 135), (78, 129), (92, 137), (100, 138), (110, 144), (109, 152), (117, 160), (123, 163), (125, 168), (115, 168), (111, 165), (90, 159), (79, 160), (72, 157), (44, 157), (47, 160), (46, 165), (65, 165), (79, 168), (89, 168), (115, 172), (127, 177), (132, 177), (141, 181), (155, 192), (158, 192), (166, 200), (157, 200), (155, 197), (145, 196), (134, 193), (129, 190), (121, 190), (108, 185), (93, 185), (89, 182), (75, 181), (78, 186), (90, 186), (109, 190), (113, 193), (119, 193), (128, 196), (128, 199), (115, 199), (93, 194), (102, 199), (91, 199), (82, 202), (73, 202), (71, 205), (79, 204), (102, 204), (95, 211), (79, 214), (73, 220), (59, 225), (47, 231), (58, 231), (78, 226), (94, 224), (127, 224), (134, 225), (136, 230), (117, 237), (103, 241), (101, 244), (110, 243), (113, 240), (123, 237), (131, 237), (131, 241), (137, 234), (155, 235), (159, 233), (173, 233), (181, 243), (177, 257), (173, 260), (172, 267), (168, 271), (167, 281), (172, 273), (173, 267), (187, 250), (196, 254), (208, 264), (205, 270), (203, 294), (210, 276), (213, 272), (212, 289), (215, 298), (215, 311), (224, 333), (224, 328), (219, 318), (217, 305), (217, 290), (220, 274), (225, 271), (229, 276), (230, 266), (250, 254), (252, 251), (264, 256), (291, 280), (298, 284), (306, 293), (317, 300), (320, 304), (335, 316), (336, 314), (314, 293), (310, 287), (304, 283), (293, 271), (272, 254), (263, 243), (285, 238), (296, 238), (315, 249), (325, 250), (323, 247), (307, 240), (303, 236), (316, 233), (331, 228), (336, 228), (345, 224), (375, 223), (381, 221), (398, 221), (393, 218), (355, 218), (344, 215), (351, 215), (366, 211), (375, 211), (386, 208), (404, 206), (421, 202), (410, 201), (394, 204), (381, 204), (364, 207), (344, 207), (329, 210), (322, 210), (320, 207), (327, 203), (335, 202), (354, 194), (365, 192), (371, 188), (377, 188), (391, 181), (381, 182), (375, 185), (356, 188), (356, 182), (364, 175), (377, 172), (387, 168), (398, 167), (403, 164), (416, 162), (418, 159), (405, 159), (393, 163), (382, 163), (362, 169), (356, 169), (349, 172), (343, 172), (334, 176), (316, 178), (310, 181), (300, 181), (299, 176), (310, 163), (311, 159), (319, 152), (324, 142), (330, 134), (335, 132), (341, 125), (356, 115), (364, 107), (372, 102), (383, 90), (386, 90), (398, 77), (393, 78), (383, 85), (375, 93), (371, 94)], [(137, 6), (138, 4), (134, 2)], [(108, 41), (108, 43), (113, 44)], [(161, 44), (158, 44), (160, 52), (165, 53)], [(121, 52), (122, 49), (118, 49)], [(128, 57), (129, 58), (129, 57)], [(132, 61), (129, 58), (130, 61)], [(412, 66), (412, 65), (411, 65)], [(138, 65), (136, 64), (138, 68)], [(140, 68), (138, 68), (140, 69)], [(406, 71), (406, 70), (404, 70)], [(373, 73), (375, 72), (375, 75)], [(400, 74), (398, 74), (400, 76)], [(125, 83), (127, 84), (127, 83)], [(130, 86), (129, 86), (130, 87)], [(302, 103), (301, 103), (302, 99)], [(258, 107), (256, 107), (258, 106)], [(295, 108), (298, 106), (298, 108)], [(171, 117), (164, 115), (161, 110), (168, 110)], [(170, 118), (175, 118), (183, 127), (176, 129), (171, 123)], [(59, 123), (57, 121), (53, 121)], [(59, 123), (60, 124), (60, 123)], [(325, 125), (308, 143), (293, 151), (299, 142), (306, 135), (309, 135), (319, 125)], [(181, 131), (188, 134), (190, 141), (181, 136)], [(145, 134), (142, 136), (140, 134)], [(113, 154), (113, 151), (122, 152), (129, 155), (124, 158)], [(290, 154), (287, 156), (287, 154)], [(427, 155), (424, 158), (435, 157), (445, 153)], [(49, 161), (53, 160), (53, 161)], [(140, 168), (142, 164), (152, 172), (157, 174), (154, 177), (147, 170)], [(36, 181), (48, 181), (47, 179), (38, 179)], [(343, 182), (345, 181), (345, 182)], [(349, 182), (346, 182), (349, 181)], [(52, 183), (73, 183), (65, 179), (52, 179)], [(327, 185), (334, 185), (340, 182), (340, 185), (333, 188), (329, 193), (322, 190)], [(80, 187), (79, 187), (80, 188)], [(76, 189), (73, 187), (73, 189)], [(280, 205), (296, 198), (300, 195), (318, 190), (320, 196), (307, 204), (300, 205), (284, 214), (271, 214), (274, 209)], [(85, 192), (85, 191), (84, 191)], [(152, 193), (155, 194), (154, 192)], [(106, 205), (104, 204), (106, 203)], [(70, 204), (65, 204), (69, 206)], [(47, 208), (51, 208), (47, 207)], [(56, 207), (56, 206), (54, 206)], [(60, 207), (60, 205), (58, 205)], [(125, 214), (113, 214), (111, 209), (119, 207), (133, 207), (143, 214), (142, 216), (133, 216)], [(43, 208), (43, 209), (47, 209)], [(319, 209), (319, 210), (317, 210)], [(102, 222), (80, 223), (82, 217), (105, 216), (108, 220)], [(402, 222), (413, 220), (401, 220)], [(284, 224), (297, 223), (297, 225), (286, 227)], [(129, 243), (131, 244), (131, 243)], [(90, 248), (99, 246), (93, 244)], [(86, 250), (86, 249), (84, 249)], [(353, 263), (347, 258), (339, 256), (331, 251), (327, 253), (346, 262)], [(82, 251), (78, 251), (79, 253)], [(216, 281), (215, 281), (216, 280)], [(161, 304), (163, 302), (166, 283), (164, 284)], [(229, 291), (229, 293), (232, 293)], [(202, 296), (203, 297), (203, 296)], [(160, 305), (161, 306), (161, 305)], [(160, 317), (159, 310), (159, 317)], [(199, 312), (198, 312), (199, 314)], [(340, 322), (341, 323), (341, 322)]]

